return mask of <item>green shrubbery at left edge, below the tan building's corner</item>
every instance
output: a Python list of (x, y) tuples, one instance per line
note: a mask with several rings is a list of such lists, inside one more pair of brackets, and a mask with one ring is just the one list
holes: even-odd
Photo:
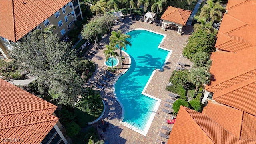
[(4, 79), (20, 80), (23, 78), (22, 74), (18, 71), (18, 66), (14, 60), (6, 62), (0, 59), (0, 76)]

